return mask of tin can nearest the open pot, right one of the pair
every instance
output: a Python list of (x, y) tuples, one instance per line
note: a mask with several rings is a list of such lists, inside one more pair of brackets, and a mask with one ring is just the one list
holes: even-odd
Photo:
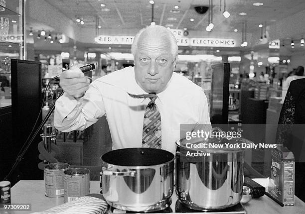
[(64, 203), (71, 202), (90, 192), (90, 170), (70, 168), (64, 171)]

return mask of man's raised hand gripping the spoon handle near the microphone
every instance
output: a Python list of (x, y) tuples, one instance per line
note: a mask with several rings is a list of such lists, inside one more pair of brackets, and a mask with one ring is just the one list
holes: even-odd
[(60, 75), (59, 85), (64, 92), (74, 98), (82, 97), (89, 89), (89, 83), (90, 80), (86, 78), (84, 73), (76, 66), (62, 72)]

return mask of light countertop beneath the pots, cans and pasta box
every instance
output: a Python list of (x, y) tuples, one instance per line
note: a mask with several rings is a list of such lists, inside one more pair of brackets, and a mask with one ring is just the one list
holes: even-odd
[[(265, 183), (264, 179), (255, 179), (258, 183)], [(90, 181), (90, 193), (100, 192), (100, 182)], [(172, 196), (173, 203), (176, 196)], [(11, 204), (31, 204), (31, 211), (7, 212), (0, 208), (0, 214), (28, 214), (44, 211), (49, 208), (63, 204), (63, 197), (49, 198), (44, 195), (44, 181), (19, 181), (11, 188)], [(281, 207), (276, 202), (263, 196), (259, 199), (252, 199), (244, 205), (248, 214), (305, 214), (305, 203), (298, 197), (295, 197), (295, 206)]]

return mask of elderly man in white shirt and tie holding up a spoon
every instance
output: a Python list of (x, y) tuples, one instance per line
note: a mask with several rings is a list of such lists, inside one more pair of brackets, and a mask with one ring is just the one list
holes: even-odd
[[(173, 73), (177, 51), (169, 30), (150, 25), (134, 39), (135, 67), (103, 76), (90, 86), (80, 69), (63, 72), (60, 85), (65, 93), (56, 102), (55, 127), (83, 130), (106, 115), (113, 149), (154, 147), (174, 153), (180, 124), (211, 128), (203, 90)], [(150, 95), (138, 99), (127, 92)]]

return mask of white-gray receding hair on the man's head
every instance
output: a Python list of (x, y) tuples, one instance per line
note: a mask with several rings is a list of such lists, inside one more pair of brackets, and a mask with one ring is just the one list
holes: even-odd
[(171, 54), (173, 57), (176, 57), (178, 54), (178, 45), (177, 45), (177, 40), (175, 38), (175, 36), (172, 34), (171, 31), (169, 31), (167, 28), (161, 26), (161, 25), (149, 25), (143, 29), (141, 29), (135, 36), (134, 38), (134, 42), (132, 44), (132, 54), (134, 55), (134, 57), (136, 56), (136, 51), (138, 49), (138, 41), (140, 36), (142, 35), (143, 32), (147, 31), (147, 30), (154, 30), (155, 32), (157, 32), (159, 35), (164, 36), (165, 38), (169, 39), (170, 42), (170, 49), (171, 49)]

